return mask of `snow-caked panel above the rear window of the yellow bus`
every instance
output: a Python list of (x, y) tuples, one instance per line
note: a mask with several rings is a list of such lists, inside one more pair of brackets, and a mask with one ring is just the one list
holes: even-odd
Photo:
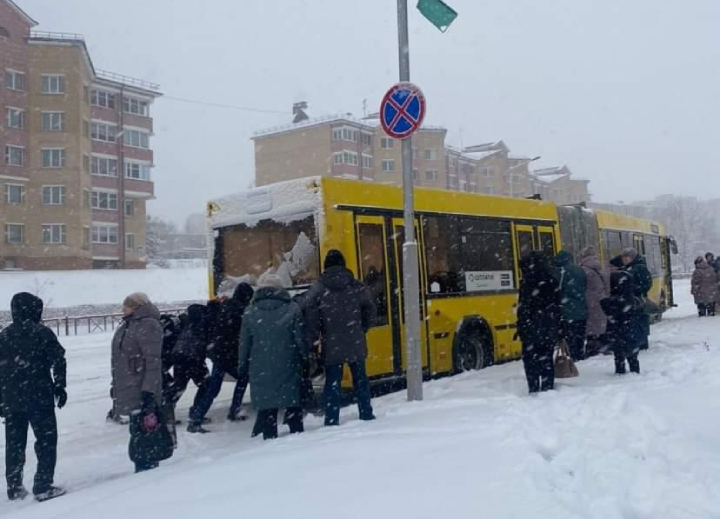
[(320, 210), (320, 177), (301, 178), (256, 187), (210, 202), (213, 229), (257, 225), (262, 220), (288, 223)]

